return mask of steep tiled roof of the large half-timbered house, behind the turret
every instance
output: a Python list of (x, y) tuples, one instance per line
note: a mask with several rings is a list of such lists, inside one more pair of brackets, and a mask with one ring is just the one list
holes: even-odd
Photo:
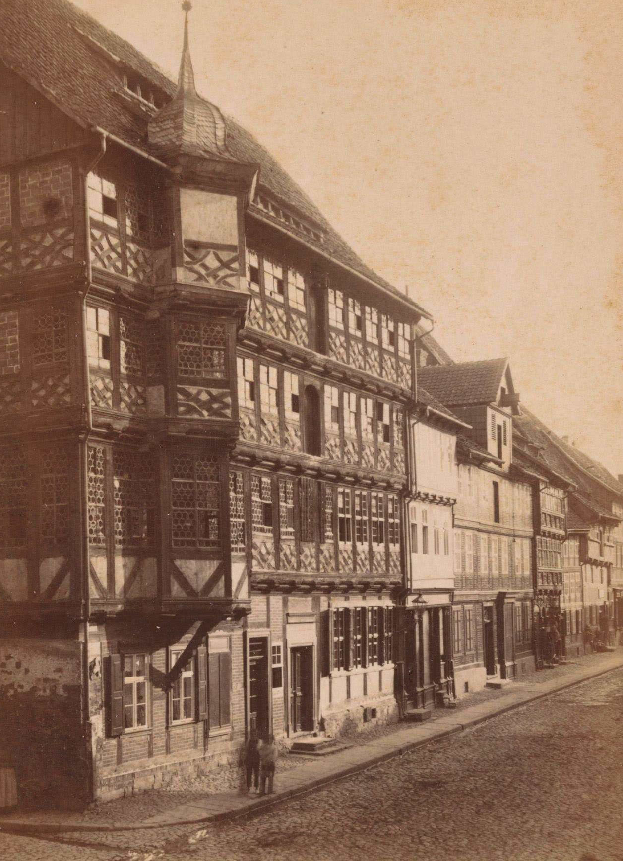
[[(199, 43), (198, 38), (196, 42)], [(122, 90), (120, 69), (128, 67), (136, 72), (163, 97), (174, 96), (176, 84), (129, 42), (72, 3), (0, 0), (0, 59), (81, 126), (102, 127), (142, 152), (159, 155), (147, 141), (149, 108), (145, 109), (145, 116), (139, 115), (141, 112), (130, 103), (115, 96), (115, 91)], [(429, 318), (422, 307), (405, 299), (402, 292), (361, 261), (299, 185), (250, 133), (228, 116), (225, 125), (231, 156), (259, 163), (260, 185), (321, 228), (324, 241), (305, 241), (399, 300), (406, 300), (414, 312)]]

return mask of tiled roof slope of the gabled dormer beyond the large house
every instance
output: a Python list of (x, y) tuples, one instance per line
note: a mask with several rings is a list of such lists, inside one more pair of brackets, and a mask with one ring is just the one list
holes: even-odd
[(418, 382), (447, 406), (490, 404), (497, 398), (508, 359), (456, 362), (417, 369)]

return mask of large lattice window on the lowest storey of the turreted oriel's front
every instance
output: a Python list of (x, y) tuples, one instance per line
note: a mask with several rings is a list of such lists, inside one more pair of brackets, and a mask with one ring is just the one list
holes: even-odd
[(171, 457), (171, 539), (174, 547), (219, 546), (219, 462), (174, 453)]

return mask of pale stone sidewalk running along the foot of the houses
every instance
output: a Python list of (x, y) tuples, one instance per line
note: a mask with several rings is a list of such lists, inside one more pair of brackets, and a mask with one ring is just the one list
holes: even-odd
[(207, 826), (215, 821), (254, 815), (287, 798), (304, 794), (340, 777), (363, 771), (429, 742), (460, 733), (491, 717), (580, 684), (619, 666), (623, 666), (621, 647), (614, 652), (590, 655), (566, 666), (559, 666), (555, 673), (552, 671), (544, 673), (541, 677), (543, 680), (540, 680), (540, 673), (530, 674), (526, 681), (511, 682), (502, 691), (496, 691), (497, 695), (489, 699), (474, 695), (478, 697), (479, 702), (472, 705), (469, 704), (471, 697), (467, 697), (460, 703), (460, 709), (437, 710), (429, 722), (400, 724), (391, 734), (349, 747), (339, 753), (305, 761), (302, 765), (284, 771), (278, 776), (278, 786), (274, 794), (269, 796), (246, 796), (232, 791), (213, 793), (195, 798), (192, 803), (147, 816), (132, 826), (128, 826), (126, 822), (115, 823), (114, 821), (96, 824), (94, 821), (80, 820), (79, 817), (71, 814), (49, 815), (41, 812), (24, 815), (17, 811), (12, 815), (0, 816), (0, 831), (22, 834), (86, 831), (97, 831), (103, 834), (141, 830), (151, 832), (185, 825)]

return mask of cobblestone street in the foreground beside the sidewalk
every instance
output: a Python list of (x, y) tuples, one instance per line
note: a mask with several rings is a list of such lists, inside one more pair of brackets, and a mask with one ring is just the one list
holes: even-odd
[[(621, 861), (623, 669), (243, 821), (3, 835), (3, 858)], [(136, 852), (138, 854), (134, 855)]]

